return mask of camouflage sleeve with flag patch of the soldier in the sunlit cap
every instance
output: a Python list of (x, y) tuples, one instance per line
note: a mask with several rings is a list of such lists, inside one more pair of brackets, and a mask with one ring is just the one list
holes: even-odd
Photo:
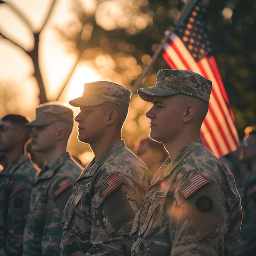
[(88, 255), (130, 255), (132, 221), (146, 191), (120, 173), (101, 182), (93, 199), (92, 248)]

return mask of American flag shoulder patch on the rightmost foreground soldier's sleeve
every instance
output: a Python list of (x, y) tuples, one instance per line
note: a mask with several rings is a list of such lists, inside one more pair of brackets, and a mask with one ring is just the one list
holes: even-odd
[(183, 182), (178, 189), (185, 198), (188, 198), (207, 183), (209, 183), (209, 181), (204, 177), (204, 175), (202, 175), (202, 173), (197, 173)]

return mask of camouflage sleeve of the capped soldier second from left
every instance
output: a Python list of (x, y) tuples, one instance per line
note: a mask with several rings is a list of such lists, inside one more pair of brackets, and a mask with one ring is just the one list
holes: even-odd
[(47, 216), (41, 244), (42, 256), (59, 255), (62, 235), (61, 217), (72, 188), (72, 182), (64, 179), (49, 189)]

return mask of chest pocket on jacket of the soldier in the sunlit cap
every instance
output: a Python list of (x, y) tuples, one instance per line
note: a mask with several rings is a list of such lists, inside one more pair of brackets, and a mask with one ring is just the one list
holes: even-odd
[(76, 193), (72, 194), (70, 199), (67, 201), (65, 209), (63, 211), (61, 224), (63, 224), (63, 229), (67, 229), (74, 215), (74, 211), (77, 207), (77, 204), (81, 201), (83, 197), (90, 195), (92, 191), (92, 183), (87, 185), (80, 184)]

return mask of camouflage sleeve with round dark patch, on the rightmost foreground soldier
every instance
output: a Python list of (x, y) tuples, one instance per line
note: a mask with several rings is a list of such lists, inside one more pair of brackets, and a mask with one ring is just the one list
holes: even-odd
[[(175, 191), (169, 222), (171, 256), (236, 255), (224, 251), (229, 217), (233, 214), (225, 192), (214, 177), (197, 175), (182, 182)], [(175, 217), (177, 221), (173, 221)]]

